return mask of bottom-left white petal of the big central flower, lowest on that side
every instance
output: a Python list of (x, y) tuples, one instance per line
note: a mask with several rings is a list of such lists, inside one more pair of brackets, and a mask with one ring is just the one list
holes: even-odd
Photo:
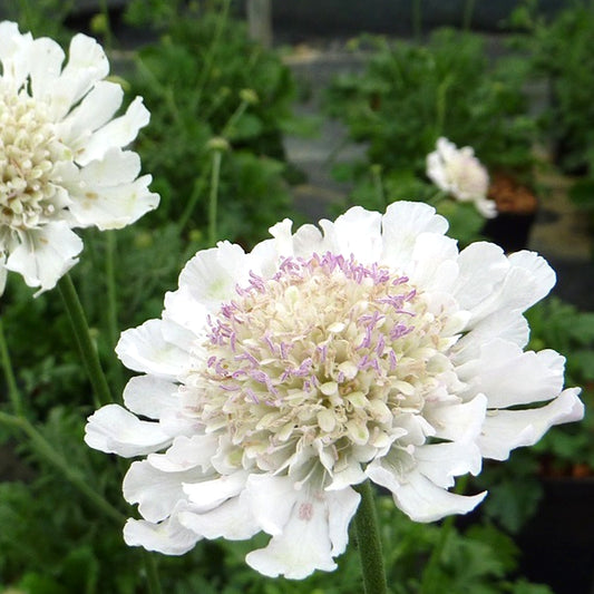
[(143, 546), (164, 555), (183, 555), (194, 548), (201, 537), (179, 524), (177, 514), (187, 509), (179, 505), (176, 514), (168, 519), (152, 524), (144, 519), (128, 519), (124, 526), (124, 541), (128, 546)]

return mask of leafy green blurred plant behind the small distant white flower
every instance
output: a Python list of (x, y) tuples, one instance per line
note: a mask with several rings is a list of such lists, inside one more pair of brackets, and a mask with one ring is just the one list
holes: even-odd
[(476, 238), (484, 218), (469, 204), (439, 199), (426, 156), (445, 136), (471, 146), (489, 173), (512, 171), (529, 182), (527, 62), (512, 55), (491, 60), (483, 37), (454, 29), (438, 29), (422, 45), (368, 36), (354, 47), (369, 55), (366, 70), (337, 77), (325, 103), (349, 136), (367, 144), (364, 162), (337, 167), (341, 179), (356, 182), (350, 202), (373, 208), (395, 199), (434, 202), (456, 237)]

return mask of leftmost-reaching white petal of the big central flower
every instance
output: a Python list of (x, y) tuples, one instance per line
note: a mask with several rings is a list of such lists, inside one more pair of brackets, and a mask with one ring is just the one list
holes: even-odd
[(142, 421), (118, 405), (107, 405), (88, 418), (87, 446), (124, 458), (163, 449), (172, 437), (157, 422)]

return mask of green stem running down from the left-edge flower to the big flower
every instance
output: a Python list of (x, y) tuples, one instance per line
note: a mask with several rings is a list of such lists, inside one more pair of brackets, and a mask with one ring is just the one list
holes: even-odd
[(76, 288), (69, 274), (65, 274), (58, 281), (58, 288), (70, 318), (70, 323), (78, 342), (82, 362), (87, 370), (88, 378), (92, 384), (92, 390), (95, 392), (95, 406), (99, 408), (101, 405), (107, 405), (113, 400), (109, 386), (107, 384), (107, 379), (99, 361), (99, 356), (90, 338), (89, 325), (85, 317), (85, 311), (82, 310), (82, 305), (80, 304)]

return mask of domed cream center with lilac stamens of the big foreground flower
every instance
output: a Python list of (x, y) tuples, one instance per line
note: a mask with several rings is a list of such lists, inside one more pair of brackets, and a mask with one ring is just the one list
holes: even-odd
[(312, 446), (328, 467), (359, 446), (386, 448), (449, 369), (445, 317), (386, 267), (286, 259), (236, 293), (210, 320), (206, 363), (185, 390), (188, 413), (227, 431), (243, 464), (279, 469)]

